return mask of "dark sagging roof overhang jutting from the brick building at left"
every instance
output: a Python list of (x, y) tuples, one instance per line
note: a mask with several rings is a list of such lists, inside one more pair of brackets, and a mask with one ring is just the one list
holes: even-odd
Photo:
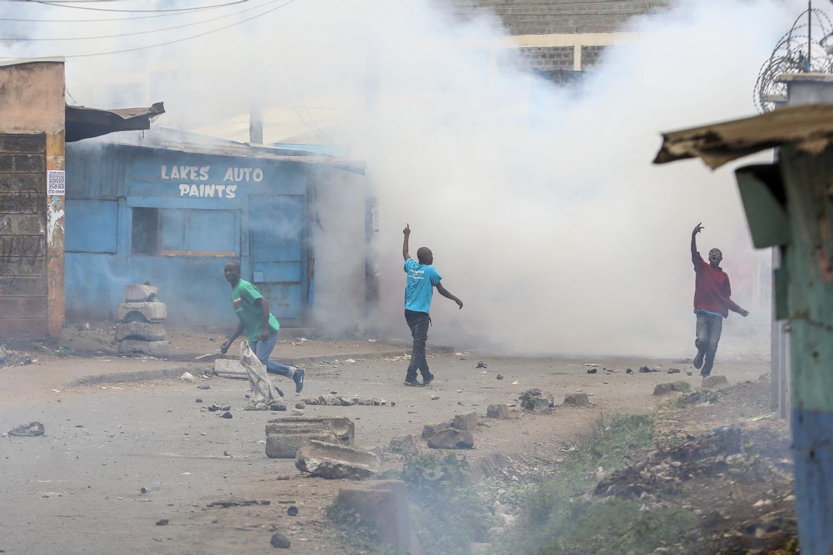
[(81, 141), (113, 131), (139, 131), (151, 128), (152, 118), (165, 113), (162, 102), (148, 108), (103, 110), (67, 104), (67, 135), (65, 141)]

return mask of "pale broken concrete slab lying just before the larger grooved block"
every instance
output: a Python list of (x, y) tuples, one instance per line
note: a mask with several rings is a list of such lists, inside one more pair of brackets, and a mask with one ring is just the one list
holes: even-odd
[(363, 480), (376, 476), (381, 465), (370, 451), (317, 440), (303, 443), (295, 456), (295, 468), (321, 478)]

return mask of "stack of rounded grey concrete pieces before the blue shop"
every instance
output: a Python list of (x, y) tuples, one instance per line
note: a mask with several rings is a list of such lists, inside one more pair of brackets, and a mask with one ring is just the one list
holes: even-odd
[(167, 306), (157, 300), (158, 293), (158, 288), (149, 284), (124, 286), (125, 302), (117, 309), (119, 353), (167, 356)]

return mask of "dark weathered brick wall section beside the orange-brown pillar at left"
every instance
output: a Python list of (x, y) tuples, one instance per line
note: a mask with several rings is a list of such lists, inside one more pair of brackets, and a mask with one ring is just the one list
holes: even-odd
[(47, 334), (46, 135), (0, 134), (0, 339)]

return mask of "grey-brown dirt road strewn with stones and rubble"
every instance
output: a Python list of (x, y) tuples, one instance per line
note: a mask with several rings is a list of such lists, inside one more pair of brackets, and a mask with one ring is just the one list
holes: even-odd
[[(487, 368), (476, 369), (478, 360)], [(587, 374), (586, 363), (598, 363)], [(356, 363), (312, 366), (301, 396), (338, 394), (381, 397), (395, 406), (310, 406), (309, 415), (337, 414), (356, 424), (356, 443), (384, 453), (399, 434), (419, 436), (424, 424), (455, 413), (485, 414), (491, 403), (516, 403), (532, 387), (547, 389), (560, 403), (576, 389), (591, 394), (586, 409), (556, 409), (549, 414), (513, 410), (509, 420), (486, 420), (476, 431), (473, 460), (487, 453), (509, 454), (535, 468), (536, 460), (558, 458), (601, 411), (641, 412), (656, 399), (654, 385), (699, 377), (687, 376), (684, 364), (668, 360), (625, 359), (497, 359), (436, 355), (429, 363), (437, 376), (430, 388), (402, 386), (402, 360), (358, 360)], [(67, 364), (80, 364), (73, 359)], [(135, 363), (134, 363), (135, 364)], [(157, 364), (156, 361), (153, 364)], [(162, 364), (162, 363), (160, 363)], [(681, 374), (626, 374), (646, 364), (683, 369)], [(602, 367), (616, 372), (606, 374)], [(37, 367), (3, 369), (4, 378)], [(724, 363), (730, 382), (756, 379), (764, 361)], [(504, 379), (496, 379), (502, 374)], [(42, 422), (39, 438), (0, 438), (0, 495), (5, 553), (262, 553), (271, 531), (286, 533), (291, 553), (337, 553), (324, 508), (340, 481), (307, 478), (291, 460), (264, 454), (264, 426), (287, 413), (243, 411), (245, 381), (211, 379), (211, 389), (178, 379), (107, 384), (59, 393), (37, 387), (29, 375), (32, 395), (0, 392), (0, 430), (32, 420)], [(278, 384), (291, 391), (287, 380)], [(102, 389), (106, 388), (106, 389)], [(37, 394), (36, 394), (37, 393)], [(432, 400), (431, 396), (439, 399)], [(202, 399), (197, 403), (196, 399)], [(217, 402), (232, 405), (232, 419), (207, 412)], [(228, 453), (228, 455), (224, 454)], [(141, 493), (141, 488), (148, 488)], [(208, 508), (208, 503), (264, 499), (267, 506)], [(299, 509), (286, 513), (288, 504)], [(159, 526), (157, 521), (167, 519)]]

